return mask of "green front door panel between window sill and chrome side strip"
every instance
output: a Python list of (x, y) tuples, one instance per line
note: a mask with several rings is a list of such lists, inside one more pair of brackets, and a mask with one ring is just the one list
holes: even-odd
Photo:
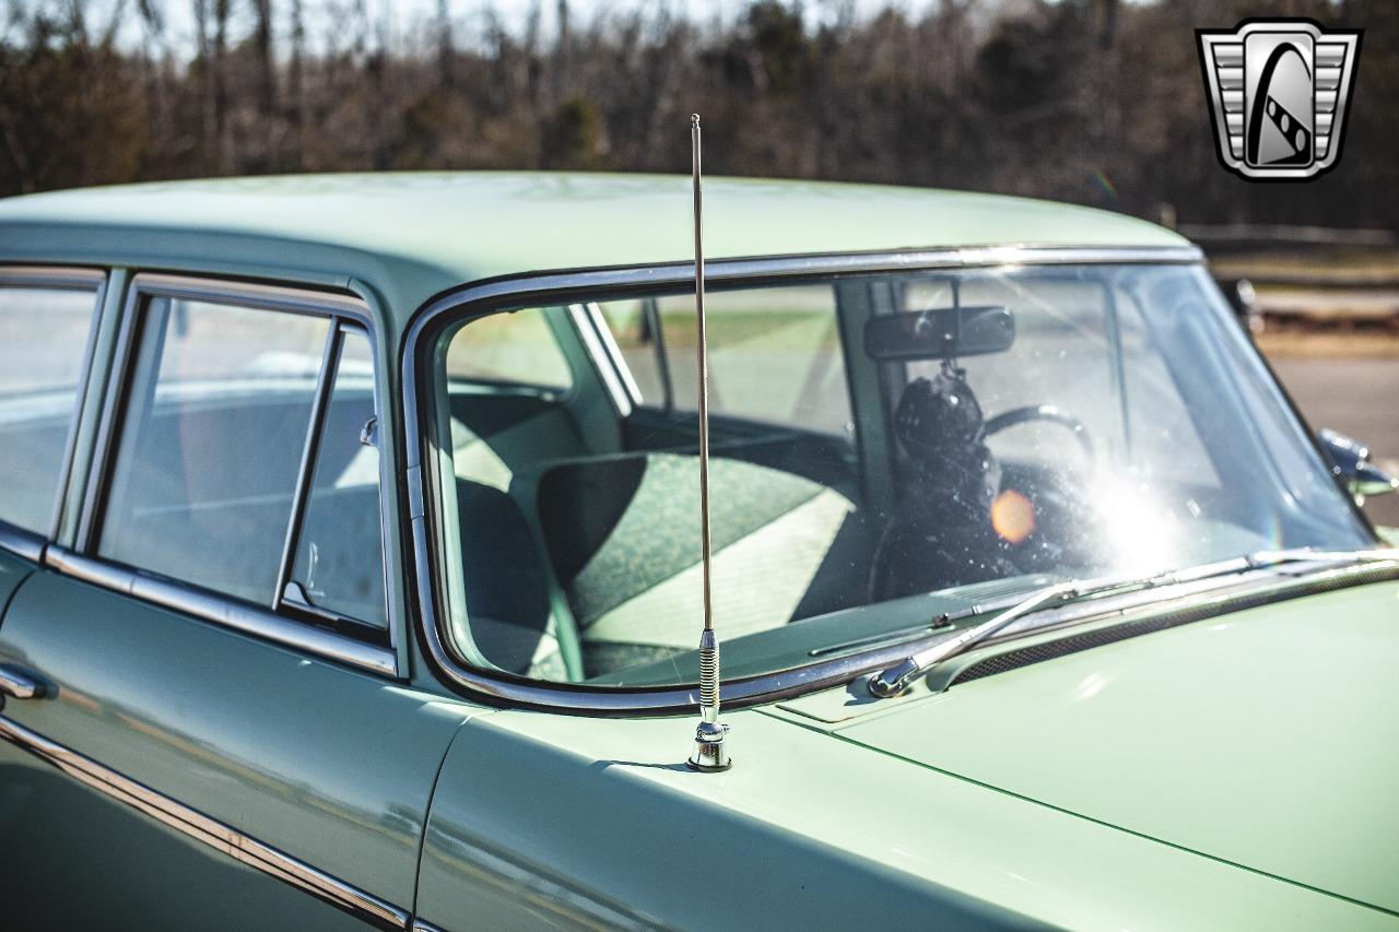
[[(49, 696), (4, 716), (402, 910), (460, 702), (312, 659), (52, 571), (0, 627), (0, 663)], [(109, 844), (94, 826), (87, 849)], [(11, 840), (38, 856), (45, 840)], [(99, 862), (64, 883), (95, 896)]]

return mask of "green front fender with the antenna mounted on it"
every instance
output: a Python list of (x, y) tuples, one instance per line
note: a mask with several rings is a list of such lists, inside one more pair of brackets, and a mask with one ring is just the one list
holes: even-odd
[(434, 795), (420, 917), (442, 929), (853, 928), (872, 917), (937, 928), (1399, 928), (1392, 915), (765, 711), (725, 718), (734, 767), (718, 777), (684, 765), (686, 721), (474, 718)]

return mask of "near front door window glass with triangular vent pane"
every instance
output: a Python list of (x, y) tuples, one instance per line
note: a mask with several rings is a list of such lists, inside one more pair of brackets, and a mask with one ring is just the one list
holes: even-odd
[[(383, 627), (364, 333), (325, 316), (152, 298), (134, 351), (98, 556)], [(323, 374), (327, 361), (336, 368)]]

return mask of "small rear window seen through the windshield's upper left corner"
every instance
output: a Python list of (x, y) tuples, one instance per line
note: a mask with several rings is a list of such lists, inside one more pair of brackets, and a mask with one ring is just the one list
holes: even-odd
[(492, 313), (471, 329), (473, 351), (448, 361), (448, 378), (470, 382), (574, 386), (568, 360), (543, 313)]

